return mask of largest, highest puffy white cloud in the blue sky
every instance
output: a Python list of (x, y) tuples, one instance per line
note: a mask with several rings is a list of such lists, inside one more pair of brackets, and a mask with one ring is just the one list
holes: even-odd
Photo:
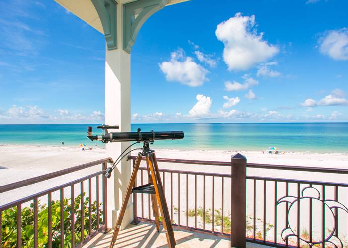
[(228, 70), (247, 70), (279, 52), (279, 48), (263, 40), (263, 33), (258, 34), (255, 26), (254, 15), (241, 13), (217, 26), (215, 35), (225, 45), (223, 59)]

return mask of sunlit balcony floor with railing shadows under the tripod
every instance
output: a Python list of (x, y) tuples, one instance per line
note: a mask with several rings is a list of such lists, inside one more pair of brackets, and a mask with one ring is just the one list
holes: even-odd
[[(162, 227), (162, 226), (161, 226)], [(186, 231), (174, 228), (174, 236), (176, 239), (177, 248), (190, 248), (190, 247), (230, 247), (230, 240), (222, 237), (202, 234), (192, 231)], [(99, 234), (88, 242), (84, 248), (107, 248), (109, 247), (112, 237), (112, 231), (107, 234)], [(156, 231), (156, 226), (149, 223), (141, 222), (137, 226), (129, 225), (125, 230), (119, 232), (115, 247), (117, 248), (131, 248), (131, 247), (168, 247), (167, 240), (163, 228), (160, 233)], [(261, 246), (247, 242), (247, 248), (256, 248), (267, 246)]]

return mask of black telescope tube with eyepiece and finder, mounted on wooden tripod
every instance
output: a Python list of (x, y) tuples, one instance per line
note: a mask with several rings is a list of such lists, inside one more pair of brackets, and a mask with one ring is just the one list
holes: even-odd
[[(116, 128), (117, 127), (117, 128)], [(105, 130), (105, 133), (101, 135), (93, 135), (91, 126), (88, 126), (87, 137), (91, 140), (98, 140), (103, 143), (108, 142), (125, 142), (125, 141), (137, 141), (137, 142), (153, 142), (154, 140), (165, 139), (183, 139), (183, 131), (167, 131), (167, 132), (141, 132), (138, 128), (137, 132), (108, 132), (107, 129), (118, 129), (118, 126), (98, 126), (97, 128)]]

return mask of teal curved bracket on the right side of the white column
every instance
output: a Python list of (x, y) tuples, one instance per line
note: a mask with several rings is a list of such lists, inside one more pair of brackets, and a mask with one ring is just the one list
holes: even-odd
[(130, 53), (145, 21), (171, 0), (137, 0), (123, 5), (123, 49)]

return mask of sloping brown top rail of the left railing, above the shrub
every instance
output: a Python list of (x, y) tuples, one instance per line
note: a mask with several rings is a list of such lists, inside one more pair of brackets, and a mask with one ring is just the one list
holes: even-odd
[(11, 184), (3, 185), (3, 186), (0, 186), (0, 193), (7, 192), (7, 191), (10, 191), (10, 190), (13, 190), (13, 189), (16, 189), (16, 188), (28, 186), (28, 185), (31, 185), (31, 184), (36, 184), (36, 183), (39, 183), (39, 182), (42, 182), (42, 181), (45, 181), (45, 180), (48, 180), (48, 179), (51, 179), (51, 178), (63, 176), (65, 174), (69, 174), (69, 173), (72, 173), (72, 172), (75, 172), (75, 171), (80, 171), (80, 170), (86, 169), (88, 167), (92, 167), (92, 166), (95, 166), (95, 165), (99, 165), (99, 164), (102, 164), (102, 163), (105, 163), (105, 162), (111, 162), (111, 161), (112, 161), (111, 158), (99, 159), (99, 160), (96, 160), (96, 161), (93, 161), (93, 162), (89, 162), (89, 163), (86, 163), (86, 164), (77, 165), (77, 166), (70, 167), (70, 168), (67, 168), (67, 169), (63, 169), (63, 170), (60, 170), (60, 171), (55, 171), (55, 172), (48, 173), (48, 174), (45, 174), (45, 175), (41, 175), (41, 176), (25, 179), (25, 180), (22, 180), (22, 181), (14, 182), (14, 183), (11, 183)]

